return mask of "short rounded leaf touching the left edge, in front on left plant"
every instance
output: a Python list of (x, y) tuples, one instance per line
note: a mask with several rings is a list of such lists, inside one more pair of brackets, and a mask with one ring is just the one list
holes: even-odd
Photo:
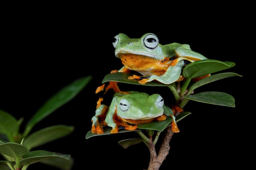
[(0, 143), (0, 153), (8, 155), (9, 157), (22, 157), (27, 154), (28, 151), (27, 147), (20, 144), (12, 142)]

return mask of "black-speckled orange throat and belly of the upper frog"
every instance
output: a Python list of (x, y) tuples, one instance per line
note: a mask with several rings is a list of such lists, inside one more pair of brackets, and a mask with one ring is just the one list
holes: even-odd
[(156, 60), (143, 55), (123, 54), (119, 58), (127, 68), (137, 71), (144, 76), (163, 75), (171, 63), (171, 60)]

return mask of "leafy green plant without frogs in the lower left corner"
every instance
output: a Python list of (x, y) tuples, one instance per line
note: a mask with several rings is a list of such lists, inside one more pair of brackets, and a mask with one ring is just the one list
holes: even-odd
[(76, 79), (49, 98), (29, 119), (24, 132), (20, 132), (22, 117), (17, 120), (11, 114), (0, 110), (0, 154), (5, 158), (5, 161), (0, 161), (1, 170), (26, 170), (29, 165), (37, 162), (62, 170), (72, 168), (74, 161), (71, 155), (33, 149), (69, 135), (74, 126), (54, 125), (33, 133), (31, 130), (38, 122), (73, 99), (91, 78), (87, 76)]

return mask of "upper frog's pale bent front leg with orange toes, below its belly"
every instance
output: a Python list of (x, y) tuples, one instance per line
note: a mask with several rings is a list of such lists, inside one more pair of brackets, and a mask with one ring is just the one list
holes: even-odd
[(147, 82), (151, 82), (153, 80), (157, 80), (163, 84), (171, 84), (176, 82), (181, 75), (182, 67), (184, 66), (184, 61), (178, 62), (175, 66), (169, 66), (166, 72), (161, 75), (150, 75), (149, 78), (144, 78), (139, 80), (140, 84), (146, 84)]

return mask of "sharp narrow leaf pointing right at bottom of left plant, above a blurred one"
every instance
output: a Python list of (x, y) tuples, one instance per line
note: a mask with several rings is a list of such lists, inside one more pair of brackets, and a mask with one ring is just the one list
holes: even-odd
[(37, 163), (45, 159), (52, 159), (56, 157), (59, 157), (61, 159), (70, 159), (70, 155), (58, 155), (55, 152), (35, 150), (28, 152), (27, 155), (24, 155), (23, 159), (20, 161), (20, 164), (23, 166), (28, 166), (32, 163)]

